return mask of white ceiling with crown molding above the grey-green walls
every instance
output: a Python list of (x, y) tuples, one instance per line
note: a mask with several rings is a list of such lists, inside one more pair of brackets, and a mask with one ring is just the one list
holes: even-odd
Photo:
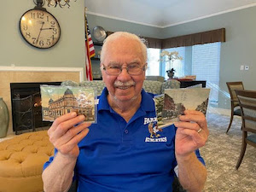
[(84, 0), (87, 14), (148, 26), (175, 26), (256, 5), (256, 0)]

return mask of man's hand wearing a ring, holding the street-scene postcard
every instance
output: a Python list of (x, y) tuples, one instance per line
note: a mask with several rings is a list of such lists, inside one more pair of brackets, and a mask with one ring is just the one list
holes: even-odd
[(175, 123), (177, 133), (175, 138), (175, 153), (178, 157), (187, 157), (201, 148), (207, 142), (209, 131), (207, 120), (203, 113), (195, 110), (185, 110)]

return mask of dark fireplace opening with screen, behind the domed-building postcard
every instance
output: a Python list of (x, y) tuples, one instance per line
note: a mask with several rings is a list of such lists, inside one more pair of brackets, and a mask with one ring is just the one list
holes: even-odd
[(60, 85), (61, 82), (10, 83), (13, 131), (36, 131), (52, 123), (42, 120), (40, 84)]

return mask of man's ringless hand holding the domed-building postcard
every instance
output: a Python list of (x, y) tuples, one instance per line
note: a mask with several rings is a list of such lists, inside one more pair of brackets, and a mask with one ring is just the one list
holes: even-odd
[(53, 143), (61, 156), (67, 159), (77, 159), (78, 143), (88, 134), (90, 123), (85, 123), (84, 115), (67, 113), (55, 119), (48, 131), (49, 141)]

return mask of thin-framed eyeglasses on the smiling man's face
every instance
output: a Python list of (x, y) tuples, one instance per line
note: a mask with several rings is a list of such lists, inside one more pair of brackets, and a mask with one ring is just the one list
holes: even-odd
[(137, 64), (129, 65), (128, 67), (122, 67), (119, 65), (110, 65), (110, 66), (104, 66), (102, 64), (102, 69), (108, 74), (108, 75), (119, 75), (122, 73), (123, 68), (127, 70), (127, 73), (130, 75), (140, 75), (143, 73), (143, 71), (146, 70), (146, 65), (141, 67)]

